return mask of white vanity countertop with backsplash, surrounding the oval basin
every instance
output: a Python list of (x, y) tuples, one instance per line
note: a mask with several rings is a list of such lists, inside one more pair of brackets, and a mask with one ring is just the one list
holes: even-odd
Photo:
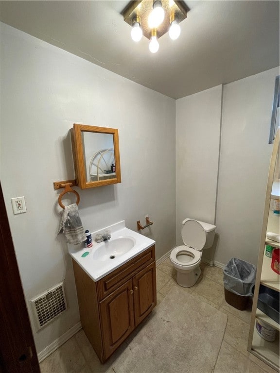
[[(104, 242), (95, 242), (95, 236), (97, 233), (104, 233), (104, 231), (108, 229), (111, 231), (111, 238), (107, 241), (108, 244), (116, 238), (132, 237), (135, 240), (135, 245), (128, 252), (121, 256), (116, 256), (114, 259), (108, 258), (106, 260), (95, 260), (93, 258), (94, 253), (101, 247), (101, 245), (104, 245)], [(85, 248), (84, 243), (81, 243), (79, 245), (68, 245), (68, 249), (72, 258), (83, 268), (84, 271), (88, 273), (88, 276), (92, 278), (93, 281), (100, 280), (108, 273), (121, 267), (124, 263), (155, 244), (153, 239), (126, 228), (124, 220), (95, 231), (91, 235), (93, 243), (92, 247)], [(106, 249), (104, 248), (104, 250)], [(87, 252), (89, 253), (88, 255), (86, 254)], [(87, 256), (83, 257), (82, 255)]]

